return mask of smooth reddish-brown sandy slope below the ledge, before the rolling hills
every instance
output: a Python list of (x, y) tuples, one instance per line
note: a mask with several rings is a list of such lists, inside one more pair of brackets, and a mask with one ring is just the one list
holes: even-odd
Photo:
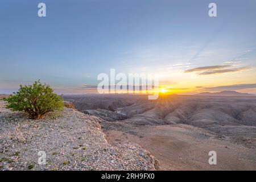
[[(189, 125), (143, 126), (105, 131), (110, 144), (127, 140), (151, 152), (163, 170), (255, 170), (256, 151)], [(210, 165), (209, 151), (217, 152)]]

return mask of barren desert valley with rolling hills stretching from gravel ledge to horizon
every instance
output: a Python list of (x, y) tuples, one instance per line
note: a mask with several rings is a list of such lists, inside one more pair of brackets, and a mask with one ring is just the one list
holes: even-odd
[[(115, 102), (120, 97), (122, 102)], [(93, 102), (87, 96), (64, 98), (101, 118), (110, 143), (138, 143), (163, 169), (256, 169), (256, 97), (161, 96), (149, 101), (144, 96), (100, 95), (93, 96)], [(115, 105), (108, 110), (100, 101)], [(219, 165), (209, 166), (210, 150), (217, 151)]]

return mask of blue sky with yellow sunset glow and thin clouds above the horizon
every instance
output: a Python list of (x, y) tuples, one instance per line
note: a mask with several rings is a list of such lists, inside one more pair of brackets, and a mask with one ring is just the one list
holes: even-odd
[[(46, 17), (38, 4), (46, 4)], [(217, 17), (208, 15), (209, 3)], [(169, 92), (256, 93), (256, 1), (0, 1), (0, 93), (40, 79), (95, 92), (100, 73), (157, 73)]]

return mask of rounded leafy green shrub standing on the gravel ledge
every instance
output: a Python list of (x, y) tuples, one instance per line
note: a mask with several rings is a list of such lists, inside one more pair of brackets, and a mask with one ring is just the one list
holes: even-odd
[(63, 110), (63, 98), (53, 93), (49, 85), (35, 81), (33, 85), (22, 86), (18, 92), (4, 98), (6, 108), (13, 111), (24, 111), (32, 119), (39, 119), (48, 112)]

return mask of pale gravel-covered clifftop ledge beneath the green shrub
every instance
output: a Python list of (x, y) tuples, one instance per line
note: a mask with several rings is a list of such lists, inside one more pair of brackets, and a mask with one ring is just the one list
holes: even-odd
[[(0, 101), (0, 170), (156, 170), (158, 160), (137, 144), (110, 145), (100, 118), (65, 108), (32, 120)], [(46, 154), (46, 164), (39, 151)]]

